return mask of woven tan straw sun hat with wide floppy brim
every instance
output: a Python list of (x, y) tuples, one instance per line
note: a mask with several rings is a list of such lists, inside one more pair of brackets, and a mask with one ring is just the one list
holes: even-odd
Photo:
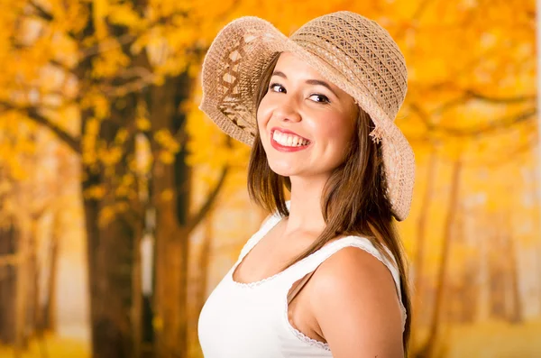
[(285, 51), (305, 60), (371, 116), (375, 129), (370, 135), (381, 141), (383, 151), (386, 196), (393, 215), (404, 220), (411, 205), (415, 159), (393, 121), (406, 96), (408, 73), (399, 47), (378, 23), (342, 11), (317, 17), (288, 38), (260, 18), (234, 20), (206, 53), (199, 108), (225, 133), (252, 145), (258, 80), (273, 54)]

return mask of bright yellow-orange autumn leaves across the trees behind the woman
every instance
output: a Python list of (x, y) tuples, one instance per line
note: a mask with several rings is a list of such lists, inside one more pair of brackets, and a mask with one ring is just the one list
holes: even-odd
[[(506, 237), (516, 245), (518, 259), (535, 263), (533, 254), (525, 253), (538, 250), (540, 230), (535, 196), (539, 181), (534, 156), (538, 139), (533, 0), (316, 5), (286, 0), (5, 0), (0, 4), (0, 210), (17, 210), (17, 188), (24, 188), (21, 191), (29, 197), (24, 207), (29, 211), (39, 212), (36, 207), (49, 203), (43, 194), (32, 197), (33, 189), (23, 186), (56, 170), (54, 165), (50, 171), (33, 170), (32, 161), (46, 156), (42, 139), (36, 140), (42, 133), (65, 143), (64, 150), (78, 156), (82, 171), (78, 178), (89, 183), (83, 198), (106, 199), (99, 215), (101, 225), (137, 207), (128, 203), (141, 204), (140, 197), (152, 195), (149, 201), (154, 203), (175, 200), (174, 190), (149, 194), (149, 186), (157, 169), (179, 164), (179, 153), (186, 154), (185, 163), (195, 169), (194, 188), (205, 193), (215, 188), (221, 170), (229, 168), (220, 195), (233, 202), (245, 188), (250, 148), (228, 141), (197, 108), (201, 60), (210, 42), (225, 23), (242, 15), (265, 18), (289, 35), (318, 15), (349, 10), (388, 29), (408, 63), (408, 96), (396, 122), (416, 152), (417, 179), (411, 215), (399, 230), (413, 267), (423, 263), (425, 271), (415, 273), (426, 280), (430, 288), (426, 290), (434, 293), (436, 273), (449, 254), (453, 270), (447, 271), (448, 299), (453, 300), (454, 289), (460, 292), (457, 286), (466, 282), (459, 273), (482, 272), (472, 267), (499, 268), (486, 262), (499, 262), (499, 255), (508, 253), (498, 246)], [(182, 76), (188, 79), (178, 81)], [(160, 92), (160, 88), (167, 89)], [(186, 89), (188, 95), (180, 95), (179, 89)], [(169, 96), (171, 91), (179, 93)], [(166, 109), (160, 112), (161, 107)], [(156, 113), (175, 120), (168, 122)], [(463, 170), (458, 205), (451, 207), (456, 161)], [(93, 185), (96, 176), (101, 181)], [(59, 181), (36, 191), (54, 192), (51, 188), (63, 184)], [(52, 208), (45, 205), (45, 210)], [(449, 231), (452, 244), (449, 252), (442, 252), (450, 211), (457, 213)], [(422, 257), (417, 256), (419, 248), (425, 248)], [(234, 256), (231, 252), (227, 254)], [(519, 267), (524, 290), (538, 289), (527, 276), (526, 264)], [(480, 286), (494, 289), (486, 282)], [(538, 298), (532, 295), (519, 301), (530, 305), (525, 317), (534, 320), (532, 302)], [(509, 307), (511, 300), (506, 299)], [(423, 319), (428, 322), (429, 314), (426, 309), (419, 315), (426, 315)], [(168, 318), (154, 317), (154, 328), (162, 331)], [(528, 332), (538, 329), (532, 326)], [(456, 332), (462, 332), (460, 337), (474, 334), (466, 328)], [(490, 329), (484, 327), (483, 332)], [(509, 326), (500, 332), (517, 335)]]

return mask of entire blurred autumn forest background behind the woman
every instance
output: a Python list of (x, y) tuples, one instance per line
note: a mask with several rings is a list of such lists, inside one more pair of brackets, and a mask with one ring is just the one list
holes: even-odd
[(267, 215), (197, 110), (230, 20), (350, 10), (399, 42), (417, 160), (411, 357), (540, 357), (534, 0), (0, 0), (0, 357), (201, 357)]

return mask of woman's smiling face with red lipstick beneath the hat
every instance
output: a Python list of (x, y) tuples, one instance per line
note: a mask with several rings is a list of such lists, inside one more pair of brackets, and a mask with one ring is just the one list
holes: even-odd
[(353, 98), (284, 52), (257, 111), (271, 170), (284, 177), (330, 175), (344, 162), (358, 115)]

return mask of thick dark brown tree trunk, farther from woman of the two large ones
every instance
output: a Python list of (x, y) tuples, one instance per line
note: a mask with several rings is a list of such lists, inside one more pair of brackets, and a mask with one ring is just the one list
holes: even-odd
[[(94, 3), (88, 3), (86, 11), (93, 14)], [(78, 33), (78, 39), (94, 36), (94, 17), (89, 19)], [(85, 57), (74, 69), (78, 80), (84, 85), (83, 88), (92, 87), (95, 84), (93, 74), (93, 60), (96, 55)], [(121, 108), (131, 108), (132, 103), (128, 97), (124, 100)], [(127, 101), (127, 103), (126, 103)], [(111, 111), (115, 111), (115, 103), (110, 104)], [(87, 121), (94, 117), (92, 107), (81, 112), (81, 138), (87, 135)], [(117, 125), (106, 125), (102, 122), (98, 140), (109, 145), (115, 139), (118, 123), (128, 125), (133, 116), (118, 115)], [(82, 153), (79, 152), (82, 156)], [(83, 159), (81, 158), (81, 161)], [(117, 176), (124, 174), (122, 165), (126, 164), (126, 156), (118, 165), (120, 170)], [(87, 189), (105, 186), (105, 173), (99, 161), (91, 165), (83, 163), (81, 169), (81, 190), (87, 234), (87, 275), (90, 314), (90, 335), (92, 356), (96, 358), (131, 358), (133, 349), (132, 325), (130, 322), (131, 298), (132, 298), (132, 270), (131, 253), (133, 252), (133, 230), (121, 217), (114, 217), (108, 225), (100, 227), (100, 211), (107, 205), (112, 204), (115, 195), (111, 192), (105, 194), (107, 200), (96, 197), (87, 197)]]

